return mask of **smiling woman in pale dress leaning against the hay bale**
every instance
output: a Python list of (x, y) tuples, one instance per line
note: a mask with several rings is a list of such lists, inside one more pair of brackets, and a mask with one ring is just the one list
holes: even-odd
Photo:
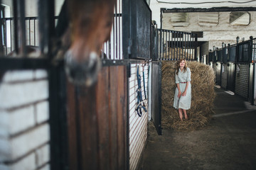
[(178, 109), (179, 117), (188, 120), (186, 110), (191, 108), (191, 70), (187, 67), (185, 59), (178, 60), (175, 71), (176, 90), (174, 94), (174, 108)]

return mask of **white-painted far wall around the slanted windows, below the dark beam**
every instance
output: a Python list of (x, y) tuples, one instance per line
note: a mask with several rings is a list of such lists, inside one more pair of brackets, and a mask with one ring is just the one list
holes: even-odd
[(198, 13), (188, 13), (188, 26), (174, 27), (170, 22), (171, 13), (164, 13), (163, 28), (168, 30), (178, 31), (203, 31), (203, 38), (198, 38), (199, 41), (235, 41), (236, 37), (249, 40), (250, 36), (256, 36), (256, 12), (250, 11), (250, 24), (248, 26), (232, 26), (229, 23), (229, 12), (219, 13), (219, 22), (217, 26), (200, 26), (198, 24)]

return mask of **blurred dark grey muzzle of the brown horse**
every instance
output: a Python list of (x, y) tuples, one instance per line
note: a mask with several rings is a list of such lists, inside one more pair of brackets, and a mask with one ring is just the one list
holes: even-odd
[(89, 59), (81, 62), (74, 59), (71, 50), (65, 53), (65, 71), (68, 79), (76, 85), (91, 86), (94, 84), (100, 68), (101, 60), (95, 52), (91, 52)]

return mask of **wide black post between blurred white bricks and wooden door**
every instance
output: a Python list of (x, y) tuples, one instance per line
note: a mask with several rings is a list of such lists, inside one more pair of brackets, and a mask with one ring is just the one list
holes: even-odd
[[(47, 60), (47, 59), (46, 59)], [(66, 111), (66, 86), (63, 66), (48, 69), (50, 169), (68, 167), (68, 125)]]

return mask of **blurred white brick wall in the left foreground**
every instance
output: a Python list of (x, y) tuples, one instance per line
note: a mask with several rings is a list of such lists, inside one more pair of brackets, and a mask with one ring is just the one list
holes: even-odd
[(46, 70), (6, 72), (0, 83), (0, 169), (50, 169)]

